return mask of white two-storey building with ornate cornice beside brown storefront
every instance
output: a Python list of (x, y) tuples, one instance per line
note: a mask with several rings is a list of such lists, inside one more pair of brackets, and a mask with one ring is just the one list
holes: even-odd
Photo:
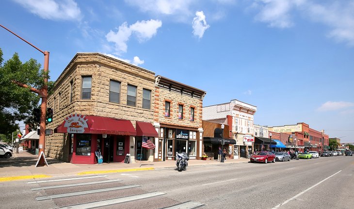
[(256, 106), (234, 99), (228, 103), (203, 107), (203, 120), (223, 123), (230, 127), (229, 137), (236, 140), (233, 156), (238, 159), (253, 152), (256, 111)]

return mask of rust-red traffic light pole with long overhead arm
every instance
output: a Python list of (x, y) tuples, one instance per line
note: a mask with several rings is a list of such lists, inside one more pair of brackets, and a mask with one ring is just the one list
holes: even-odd
[[(0, 24), (0, 26), (2, 28), (4, 28), (5, 30), (7, 30), (8, 32), (11, 32), (12, 34), (16, 35), (18, 38), (20, 38), (22, 41), (26, 42), (27, 44), (31, 45), (33, 48), (37, 49), (38, 51), (42, 52), (44, 54), (44, 85), (42, 86), (42, 88), (40, 89), (36, 89), (33, 87), (30, 87), (24, 83), (18, 82), (16, 80), (13, 80), (12, 82), (17, 84), (18, 86), (24, 87), (24, 88), (29, 88), (32, 92), (38, 94), (41, 98), (42, 98), (42, 103), (41, 103), (41, 120), (40, 120), (40, 135), (39, 135), (39, 161), (37, 163), (37, 166), (43, 166), (45, 165), (45, 159), (44, 159), (44, 155), (42, 155), (41, 153), (43, 152), (44, 154), (44, 150), (45, 150), (45, 146), (46, 146), (46, 110), (47, 110), (47, 96), (48, 96), (48, 69), (49, 69), (49, 51), (42, 51), (41, 49), (35, 47), (34, 45), (32, 45), (30, 42), (26, 41), (25, 39), (23, 39), (22, 37), (20, 37), (19, 35), (17, 35), (16, 33), (10, 31), (9, 29), (5, 28), (4, 26), (2, 26)], [(43, 157), (41, 157), (43, 156)]]

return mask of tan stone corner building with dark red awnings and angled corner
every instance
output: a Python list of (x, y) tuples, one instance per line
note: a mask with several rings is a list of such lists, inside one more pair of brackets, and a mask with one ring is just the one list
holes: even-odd
[[(78, 53), (56, 80), (47, 107), (53, 109), (54, 134), (46, 137), (46, 155), (72, 163), (124, 161), (130, 154), (153, 161), (152, 126), (155, 73), (100, 53)], [(143, 155), (143, 154), (144, 155)]]

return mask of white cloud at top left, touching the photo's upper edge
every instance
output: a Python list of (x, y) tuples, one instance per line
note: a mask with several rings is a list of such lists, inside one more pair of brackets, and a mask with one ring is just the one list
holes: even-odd
[(74, 0), (14, 0), (34, 15), (50, 20), (80, 20), (81, 11)]

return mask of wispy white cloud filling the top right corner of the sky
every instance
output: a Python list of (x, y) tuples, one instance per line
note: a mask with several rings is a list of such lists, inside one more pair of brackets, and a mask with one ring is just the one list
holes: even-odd
[(354, 46), (354, 1), (336, 1), (328, 5), (308, 4), (308, 15), (313, 21), (331, 28), (328, 36)]

